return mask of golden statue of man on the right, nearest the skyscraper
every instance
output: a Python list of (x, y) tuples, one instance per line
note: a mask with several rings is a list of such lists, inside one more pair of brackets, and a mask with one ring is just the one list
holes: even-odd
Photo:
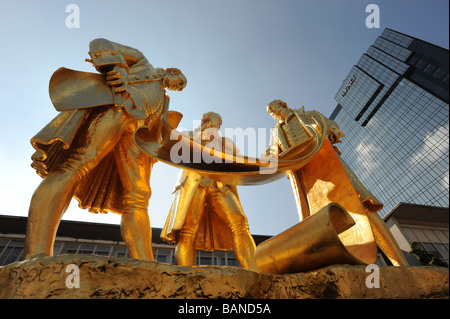
[(290, 156), (295, 148), (308, 142), (308, 126), (311, 125), (305, 124), (314, 123), (312, 119), (320, 117), (326, 123), (326, 132), (320, 133), (326, 134), (327, 138), (319, 152), (305, 166), (288, 173), (300, 221), (330, 203), (338, 203), (356, 222), (355, 226), (340, 234), (350, 253), (366, 263), (374, 263), (376, 243), (394, 266), (408, 265), (395, 238), (377, 213), (383, 204), (366, 189), (333, 145), (340, 143), (344, 136), (337, 124), (317, 111), (305, 112), (303, 107), (290, 109), (281, 100), (269, 103), (267, 111), (278, 123), (266, 155), (279, 154), (280, 158)]

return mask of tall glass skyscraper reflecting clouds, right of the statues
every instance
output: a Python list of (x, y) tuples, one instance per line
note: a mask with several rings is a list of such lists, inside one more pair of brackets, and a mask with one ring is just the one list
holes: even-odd
[(449, 54), (385, 29), (353, 66), (331, 114), (338, 148), (383, 202), (449, 205)]

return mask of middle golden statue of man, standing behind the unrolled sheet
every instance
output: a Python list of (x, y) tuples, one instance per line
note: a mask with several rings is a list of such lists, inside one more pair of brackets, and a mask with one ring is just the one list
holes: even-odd
[[(234, 143), (218, 134), (221, 125), (220, 115), (209, 112), (203, 114), (200, 129), (184, 133), (213, 150), (236, 154)], [(235, 185), (183, 170), (161, 238), (176, 243), (177, 265), (194, 265), (197, 249), (233, 249), (241, 267), (258, 271), (255, 242)]]

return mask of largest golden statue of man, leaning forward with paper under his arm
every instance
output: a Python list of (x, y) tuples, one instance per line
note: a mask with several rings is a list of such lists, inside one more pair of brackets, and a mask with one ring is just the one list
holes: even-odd
[(43, 177), (28, 215), (25, 258), (53, 254), (59, 222), (72, 197), (91, 212), (121, 214), (132, 258), (153, 260), (148, 203), (154, 159), (133, 143), (147, 125), (155, 134), (167, 111), (165, 88), (181, 91), (180, 70), (154, 68), (138, 50), (106, 39), (90, 43), (100, 74), (61, 68), (50, 96), (61, 111), (31, 139), (32, 166)]

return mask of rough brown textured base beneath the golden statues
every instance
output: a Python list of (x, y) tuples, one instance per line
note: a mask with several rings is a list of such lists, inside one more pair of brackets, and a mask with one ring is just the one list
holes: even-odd
[[(80, 288), (67, 288), (79, 267)], [(260, 274), (235, 267), (173, 266), (127, 258), (60, 255), (0, 267), (0, 298), (448, 298), (449, 272), (438, 267), (380, 267), (367, 288), (364, 266)]]

